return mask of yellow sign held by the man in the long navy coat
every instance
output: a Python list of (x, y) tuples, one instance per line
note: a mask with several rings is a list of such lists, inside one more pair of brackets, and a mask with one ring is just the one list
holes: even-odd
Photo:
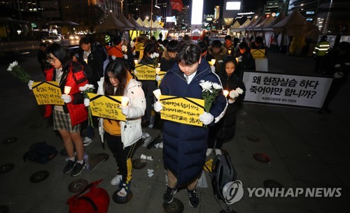
[(163, 110), (160, 118), (181, 124), (203, 126), (200, 115), (204, 113), (204, 100), (176, 96), (160, 96)]

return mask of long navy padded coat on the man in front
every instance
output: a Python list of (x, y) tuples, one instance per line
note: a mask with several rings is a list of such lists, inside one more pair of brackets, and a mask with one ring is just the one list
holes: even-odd
[[(202, 61), (197, 73), (188, 85), (179, 64), (167, 71), (160, 90), (163, 95), (202, 99), (200, 80), (209, 80), (220, 84), (218, 76), (211, 73), (207, 61)], [(225, 111), (227, 101), (221, 92), (211, 106), (210, 113), (220, 119)], [(162, 112), (162, 111), (160, 111)], [(208, 126), (214, 125), (214, 119)], [(165, 120), (163, 127), (163, 158), (164, 166), (177, 178), (177, 185), (190, 184), (202, 174), (206, 159), (209, 128), (191, 126)]]

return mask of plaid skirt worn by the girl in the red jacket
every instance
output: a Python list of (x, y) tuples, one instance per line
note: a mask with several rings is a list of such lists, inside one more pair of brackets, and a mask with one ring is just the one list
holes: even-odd
[(76, 124), (76, 126), (71, 126), (71, 116), (69, 113), (64, 113), (61, 111), (53, 110), (53, 129), (59, 130), (64, 129), (70, 133), (76, 133), (80, 131), (81, 124)]

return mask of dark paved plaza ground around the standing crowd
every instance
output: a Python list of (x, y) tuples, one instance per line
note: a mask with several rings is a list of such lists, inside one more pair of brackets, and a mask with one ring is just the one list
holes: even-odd
[[(27, 57), (20, 64), (33, 80), (43, 80), (35, 57)], [(117, 189), (110, 184), (116, 175), (116, 163), (109, 149), (102, 149), (97, 138), (86, 148), (86, 152), (104, 152), (111, 158), (91, 172), (84, 170), (78, 177), (62, 173), (66, 156), (60, 154), (44, 165), (23, 162), (22, 155), (34, 142), (46, 141), (59, 151), (63, 145), (59, 136), (52, 131), (52, 126), (48, 126), (48, 120), (43, 119), (43, 108), (36, 105), (32, 92), (27, 85), (9, 75), (7, 66), (4, 63), (0, 65), (0, 165), (14, 163), (15, 168), (0, 173), (0, 205), (8, 206), (9, 212), (14, 213), (68, 212), (66, 200), (73, 195), (68, 190), (69, 184), (80, 178), (88, 182), (104, 179), (100, 186), (112, 196)], [(269, 71), (312, 75), (313, 66), (314, 61), (310, 58), (269, 54)], [(348, 91), (349, 84), (343, 87), (330, 105), (332, 114), (320, 115), (317, 110), (244, 103), (237, 117), (236, 137), (223, 145), (237, 169), (237, 179), (244, 184), (244, 197), (232, 205), (236, 212), (349, 212)], [(160, 132), (151, 128), (144, 131), (153, 137)], [(17, 140), (8, 144), (8, 138), (13, 137)], [(145, 168), (133, 170), (131, 189), (134, 198), (126, 205), (118, 205), (111, 200), (109, 213), (163, 212), (165, 170), (162, 166), (162, 149), (141, 146), (134, 159), (139, 159), (141, 154), (153, 156), (154, 160), (147, 161)], [(255, 161), (253, 154), (266, 154), (270, 162)], [(147, 169), (155, 170), (155, 175), (148, 177)], [(48, 178), (43, 182), (29, 182), (29, 177), (40, 170), (48, 170)], [(204, 175), (209, 184), (207, 172)], [(342, 188), (342, 195), (339, 198), (248, 196), (247, 187), (264, 188), (263, 183), (267, 179), (279, 182), (286, 190), (296, 187)], [(186, 191), (176, 194), (175, 198), (181, 200), (185, 207), (183, 212), (220, 212), (210, 184), (207, 188), (198, 188), (197, 192), (201, 202), (197, 209), (188, 204)]]

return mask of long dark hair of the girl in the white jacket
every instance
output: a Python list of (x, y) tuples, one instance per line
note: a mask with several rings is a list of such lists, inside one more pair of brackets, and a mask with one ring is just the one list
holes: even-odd
[[(116, 58), (110, 62), (106, 67), (106, 75), (104, 75), (104, 94), (108, 96), (123, 96), (125, 87), (127, 87), (128, 70), (125, 66), (125, 59)], [(118, 80), (118, 88), (114, 92), (114, 87), (109, 81), (109, 73), (113, 78)]]

